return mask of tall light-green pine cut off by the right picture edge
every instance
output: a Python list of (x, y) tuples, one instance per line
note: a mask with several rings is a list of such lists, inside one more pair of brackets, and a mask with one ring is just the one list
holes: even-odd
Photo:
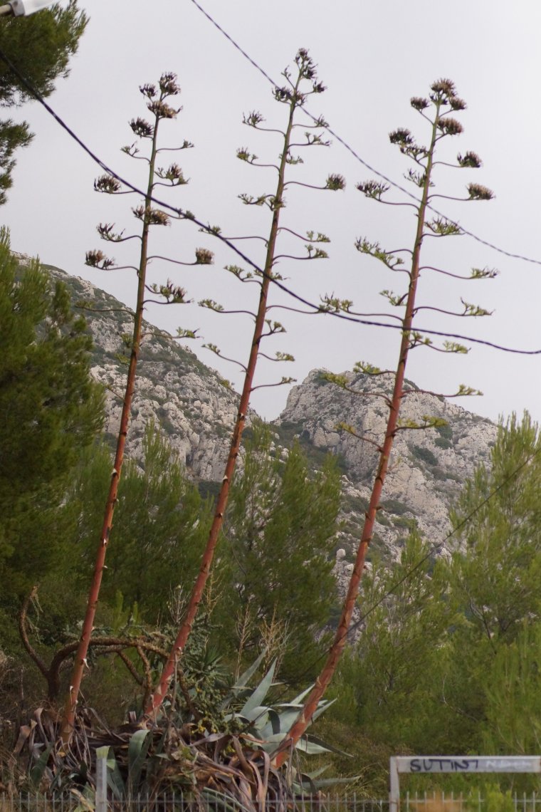
[[(452, 514), (462, 540), (449, 564), (460, 621), (450, 640), (446, 690), (460, 709), (454, 723), (468, 747), (481, 745), (482, 726), (496, 745), (496, 709), (521, 691), (506, 683), (505, 670), (518, 667), (517, 651), (539, 622), (540, 451), (539, 427), (527, 413), (522, 421), (513, 414), (500, 425), (490, 469), (479, 466)], [(509, 730), (500, 741), (511, 744)]]

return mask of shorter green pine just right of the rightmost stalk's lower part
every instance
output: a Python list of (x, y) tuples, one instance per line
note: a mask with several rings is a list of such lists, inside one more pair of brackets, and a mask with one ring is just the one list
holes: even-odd
[(442, 674), (453, 625), (449, 579), (417, 530), (392, 567), (376, 558), (361, 597), (366, 620), (344, 670), (356, 725), (391, 748), (448, 752)]

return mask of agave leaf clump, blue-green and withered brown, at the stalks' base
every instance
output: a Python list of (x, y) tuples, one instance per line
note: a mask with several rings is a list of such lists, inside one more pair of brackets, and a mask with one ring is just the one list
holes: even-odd
[[(193, 712), (187, 715), (164, 703), (156, 722), (137, 723), (135, 718), (118, 730), (111, 730), (92, 712), (79, 715), (69, 752), (58, 745), (55, 726), (34, 725), (33, 753), (29, 762), (32, 786), (49, 796), (69, 794), (72, 808), (95, 809), (97, 759), (105, 759), (109, 809), (144, 812), (153, 809), (225, 810), (260, 812), (262, 805), (273, 812), (302, 805), (322, 788), (344, 780), (321, 778), (326, 767), (306, 771), (298, 754), (320, 755), (340, 750), (308, 734), (290, 754), (286, 768), (276, 769), (272, 754), (286, 737), (302, 710), (307, 691), (289, 702), (265, 704), (276, 688), (276, 663), (259, 685), (248, 687), (264, 660), (255, 663), (238, 678), (221, 702), (223, 729), (202, 730)], [(307, 689), (310, 690), (310, 689)], [(314, 715), (320, 716), (332, 704), (323, 700)], [(42, 721), (42, 719), (41, 719)], [(39, 735), (37, 735), (39, 733)], [(351, 781), (353, 779), (348, 779)]]

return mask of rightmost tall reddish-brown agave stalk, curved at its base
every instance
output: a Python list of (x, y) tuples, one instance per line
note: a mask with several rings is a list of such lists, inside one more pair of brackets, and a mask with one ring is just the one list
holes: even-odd
[[(399, 300), (399, 303), (401, 303), (404, 298), (406, 299), (406, 310), (402, 319), (401, 345), (397, 369), (394, 374), (393, 394), (388, 401), (389, 418), (385, 430), (384, 442), (379, 447), (380, 459), (376, 469), (374, 484), (372, 486), (371, 499), (367, 508), (363, 525), (363, 533), (359, 542), (359, 548), (357, 551), (353, 572), (350, 577), (346, 599), (341, 611), (340, 621), (333, 638), (333, 644), (328, 651), (328, 657), (324, 663), (324, 667), (320, 672), (320, 675), (317, 677), (316, 683), (309, 693), (306, 702), (304, 703), (303, 710), (298, 715), (298, 719), (295, 720), (294, 724), (290, 728), (290, 731), (288, 732), (288, 735), (282, 742), (280, 749), (275, 755), (274, 763), (277, 767), (280, 767), (286, 758), (288, 758), (290, 749), (294, 748), (300, 737), (303, 736), (304, 732), (306, 731), (321, 698), (324, 696), (325, 690), (333, 678), (341, 652), (344, 649), (344, 646), (346, 646), (346, 637), (350, 628), (355, 602), (359, 594), (359, 584), (363, 575), (366, 552), (374, 531), (376, 512), (380, 504), (380, 496), (389, 468), (389, 459), (391, 456), (391, 450), (393, 448), (393, 441), (399, 428), (398, 415), (401, 400), (406, 394), (404, 391), (404, 379), (408, 354), (410, 349), (414, 348), (419, 343), (428, 343), (426, 339), (422, 338), (422, 336), (412, 332), (412, 326), (415, 315), (415, 294), (417, 292), (417, 285), (419, 281), (420, 252), (423, 244), (423, 237), (427, 234), (427, 231), (425, 231), (425, 222), (427, 204), (431, 199), (430, 189), (432, 186), (432, 170), (435, 163), (434, 153), (436, 144), (441, 138), (448, 135), (456, 135), (457, 133), (462, 132), (462, 125), (458, 123), (456, 119), (442, 117), (442, 108), (447, 106), (448, 109), (450, 107), (451, 110), (463, 110), (465, 107), (464, 102), (462, 102), (462, 100), (456, 96), (453, 83), (449, 80), (440, 80), (432, 84), (432, 93), (430, 98), (435, 108), (434, 118), (432, 120), (428, 119), (428, 116), (424, 113), (424, 110), (429, 107), (429, 102), (427, 99), (413, 98), (411, 100), (411, 106), (413, 106), (415, 110), (419, 110), (419, 112), (423, 114), (423, 117), (431, 122), (432, 135), (430, 145), (428, 147), (417, 146), (414, 143), (410, 132), (407, 130), (397, 130), (392, 132), (389, 136), (391, 142), (397, 144), (402, 153), (408, 155), (419, 167), (421, 167), (421, 171), (414, 171), (412, 174), (410, 174), (410, 179), (412, 179), (414, 184), (421, 189), (422, 195), (419, 205), (417, 206), (417, 228), (415, 233), (414, 247), (413, 250), (409, 252), (411, 253), (411, 266), (408, 273), (410, 280), (408, 292), (406, 297), (402, 297), (401, 300)], [(458, 156), (457, 166), (475, 167), (479, 165), (479, 158), (477, 158), (475, 153), (466, 153), (464, 157), (461, 155)], [(367, 197), (380, 200), (382, 194), (386, 192), (389, 187), (384, 186), (384, 184), (369, 181), (365, 184), (359, 184), (358, 188), (360, 191), (364, 192)], [(466, 198), (468, 200), (488, 200), (490, 197), (492, 197), (492, 192), (490, 192), (490, 190), (477, 186), (476, 184), (470, 184), (468, 187), (468, 192), (469, 197)], [(459, 230), (454, 226), (453, 223), (446, 222), (440, 218), (436, 218), (436, 220), (434, 220), (432, 223), (427, 224), (427, 227), (432, 234), (441, 236), (459, 233)], [(397, 260), (392, 254), (382, 251), (377, 244), (370, 244), (367, 243), (366, 240), (359, 240), (357, 247), (362, 253), (369, 253), (371, 256), (383, 261), (386, 266), (391, 268), (391, 270), (397, 270), (397, 265), (401, 264), (401, 260)], [(481, 276), (479, 276), (479, 273), (474, 274), (472, 272), (471, 278), (479, 279), (482, 278), (483, 275), (490, 275), (490, 272), (487, 272), (487, 274), (483, 274), (483, 272), (480, 273)], [(474, 309), (471, 305), (468, 305), (467, 308), (470, 310), (466, 313), (462, 313), (461, 315), (487, 314), (487, 311), (483, 311), (482, 309)], [(457, 345), (449, 345), (447, 351), (456, 352), (461, 351), (461, 349), (462, 348), (457, 348)], [(460, 394), (462, 393), (468, 394), (468, 392), (463, 389), (461, 390)]]

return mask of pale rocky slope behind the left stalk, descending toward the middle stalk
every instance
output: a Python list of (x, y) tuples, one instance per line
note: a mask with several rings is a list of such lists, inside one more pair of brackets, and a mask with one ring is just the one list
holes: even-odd
[[(105, 387), (105, 432), (118, 433), (127, 375), (127, 340), (133, 330), (129, 309), (84, 279), (57, 268), (49, 273), (69, 287), (94, 341), (92, 375)], [(145, 426), (154, 420), (171, 447), (197, 480), (221, 480), (229, 437), (238, 408), (238, 395), (213, 369), (172, 336), (145, 323), (133, 399), (127, 454), (139, 457)]]

